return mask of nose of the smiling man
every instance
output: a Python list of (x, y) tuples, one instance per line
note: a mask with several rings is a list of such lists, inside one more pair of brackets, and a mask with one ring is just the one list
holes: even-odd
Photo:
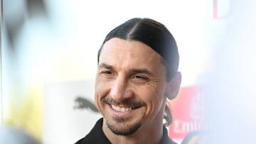
[(115, 101), (126, 101), (132, 97), (132, 90), (129, 89), (129, 84), (124, 77), (117, 77), (111, 87), (110, 96)]

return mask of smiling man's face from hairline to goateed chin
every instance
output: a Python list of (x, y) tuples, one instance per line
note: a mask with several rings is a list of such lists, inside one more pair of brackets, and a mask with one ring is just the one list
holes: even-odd
[(130, 135), (162, 123), (166, 85), (161, 57), (149, 46), (119, 38), (103, 45), (95, 104), (113, 133)]

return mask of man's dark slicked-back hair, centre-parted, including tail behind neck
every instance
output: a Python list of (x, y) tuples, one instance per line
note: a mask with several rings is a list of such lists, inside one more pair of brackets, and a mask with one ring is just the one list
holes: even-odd
[[(138, 40), (159, 53), (163, 64), (166, 66), (167, 81), (170, 81), (178, 71), (179, 55), (176, 41), (166, 26), (153, 19), (132, 18), (110, 31), (98, 52), (98, 62), (103, 45), (111, 38)], [(164, 116), (166, 126), (171, 123), (172, 119), (168, 110)]]

